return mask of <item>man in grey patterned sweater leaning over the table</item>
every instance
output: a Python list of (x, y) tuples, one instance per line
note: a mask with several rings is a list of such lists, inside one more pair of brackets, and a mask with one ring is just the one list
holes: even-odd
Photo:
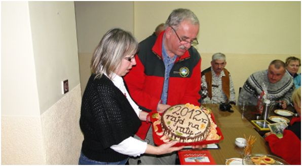
[(285, 75), (285, 63), (282, 60), (273, 60), (269, 69), (253, 73), (244, 83), (239, 93), (238, 104), (257, 105), (257, 97), (266, 85), (268, 95), (272, 101), (280, 102), (285, 109), (290, 104), (290, 97), (294, 90), (292, 78)]

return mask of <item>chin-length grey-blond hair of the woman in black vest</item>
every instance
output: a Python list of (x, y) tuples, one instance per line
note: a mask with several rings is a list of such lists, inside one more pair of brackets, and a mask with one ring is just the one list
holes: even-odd
[(106, 32), (91, 59), (91, 72), (95, 78), (104, 73), (110, 78), (119, 67), (126, 55), (135, 54), (138, 43), (130, 32), (120, 28), (113, 28)]

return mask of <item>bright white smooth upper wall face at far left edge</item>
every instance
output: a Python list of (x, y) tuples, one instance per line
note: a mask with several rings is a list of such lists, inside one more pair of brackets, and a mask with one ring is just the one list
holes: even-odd
[(28, 3), (2, 2), (1, 21), (1, 113), (38, 116), (40, 106)]

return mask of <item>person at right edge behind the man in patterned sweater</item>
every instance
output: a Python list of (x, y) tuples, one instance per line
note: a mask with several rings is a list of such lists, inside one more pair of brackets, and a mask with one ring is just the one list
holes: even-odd
[(295, 87), (296, 88), (300, 87), (301, 73), (297, 74), (297, 72), (299, 71), (299, 68), (301, 66), (301, 59), (294, 56), (290, 56), (286, 58), (285, 66), (286, 66), (286, 73), (292, 77)]

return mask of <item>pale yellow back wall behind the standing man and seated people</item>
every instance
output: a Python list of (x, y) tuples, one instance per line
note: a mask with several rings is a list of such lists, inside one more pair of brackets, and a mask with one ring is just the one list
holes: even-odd
[(301, 57), (300, 2), (135, 2), (134, 35), (141, 41), (165, 22), (172, 10), (187, 8), (200, 20), (201, 69), (213, 53), (226, 55), (236, 98), (247, 77), (274, 59)]

